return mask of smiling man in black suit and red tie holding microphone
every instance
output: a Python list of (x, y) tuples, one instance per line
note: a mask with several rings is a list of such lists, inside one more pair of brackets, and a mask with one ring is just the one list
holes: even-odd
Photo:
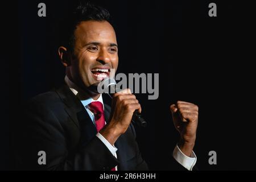
[[(77, 7), (70, 21), (58, 49), (66, 67), (65, 85), (32, 98), (24, 107), (25, 118), (16, 133), (18, 168), (148, 169), (131, 124), (134, 111), (141, 112), (139, 101), (126, 89), (114, 94), (110, 108), (96, 89), (110, 69), (118, 67), (108, 11), (88, 3)], [(173, 154), (177, 168), (191, 170), (196, 163), (192, 150), (198, 107), (178, 101), (170, 110), (181, 136)]]

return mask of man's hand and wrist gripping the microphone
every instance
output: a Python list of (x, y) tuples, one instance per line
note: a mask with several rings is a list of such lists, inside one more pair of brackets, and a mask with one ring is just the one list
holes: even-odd
[(130, 89), (115, 93), (112, 100), (110, 122), (100, 131), (100, 134), (114, 145), (118, 137), (125, 133), (130, 125), (134, 111), (141, 112), (141, 105)]

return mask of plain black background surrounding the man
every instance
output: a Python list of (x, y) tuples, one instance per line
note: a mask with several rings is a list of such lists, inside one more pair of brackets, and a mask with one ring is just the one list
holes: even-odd
[[(38, 3), (47, 7), (38, 16)], [(2, 6), (0, 169), (13, 169), (10, 132), (20, 103), (64, 79), (57, 57), (57, 20), (75, 1), (18, 1)], [(121, 73), (159, 73), (159, 98), (137, 94), (146, 129), (138, 143), (151, 169), (164, 165), (178, 135), (168, 109), (177, 100), (199, 106), (195, 152), (201, 170), (255, 170), (255, 42), (253, 7), (245, 1), (93, 1), (110, 11)], [(208, 16), (210, 2), (217, 17)], [(12, 4), (13, 3), (13, 4)], [(18, 9), (15, 7), (18, 6)], [(2, 11), (3, 12), (3, 11)], [(18, 14), (17, 14), (18, 13)], [(14, 18), (13, 18), (14, 16)], [(22, 122), (22, 121), (20, 121)], [(217, 152), (209, 165), (208, 152)]]

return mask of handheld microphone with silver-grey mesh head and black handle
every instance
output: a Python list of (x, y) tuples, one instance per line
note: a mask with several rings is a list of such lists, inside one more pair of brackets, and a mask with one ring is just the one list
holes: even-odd
[[(113, 94), (116, 93), (115, 85), (117, 85), (117, 82), (115, 82), (114, 78), (107, 77), (100, 82), (100, 84), (98, 85), (98, 90), (100, 87), (100, 89), (104, 88), (102, 91), (104, 91), (104, 93), (107, 93), (108, 96), (112, 99)], [(147, 122), (145, 121), (145, 119), (142, 118), (142, 115), (141, 113), (139, 113), (138, 109), (134, 111), (131, 121), (141, 127), (147, 126)]]

